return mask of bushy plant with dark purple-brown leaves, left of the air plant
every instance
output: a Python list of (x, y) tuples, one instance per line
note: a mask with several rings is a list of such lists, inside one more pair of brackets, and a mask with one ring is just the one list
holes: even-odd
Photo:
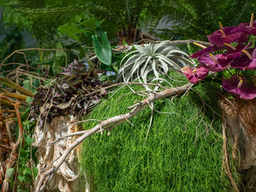
[(52, 118), (60, 115), (86, 114), (105, 94), (90, 94), (106, 86), (98, 80), (98, 74), (93, 68), (87, 70), (81, 62), (74, 61), (62, 70), (55, 76), (54, 81), (39, 87), (38, 93), (34, 95), (31, 117), (38, 118), (40, 114), (41, 123), (44, 118), (50, 122)]

